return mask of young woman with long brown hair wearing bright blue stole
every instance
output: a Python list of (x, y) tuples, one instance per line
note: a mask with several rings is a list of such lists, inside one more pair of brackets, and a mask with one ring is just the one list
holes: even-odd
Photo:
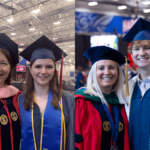
[(19, 96), (21, 150), (74, 149), (74, 97), (58, 85), (55, 62), (62, 50), (42, 36), (21, 54), (30, 61)]

